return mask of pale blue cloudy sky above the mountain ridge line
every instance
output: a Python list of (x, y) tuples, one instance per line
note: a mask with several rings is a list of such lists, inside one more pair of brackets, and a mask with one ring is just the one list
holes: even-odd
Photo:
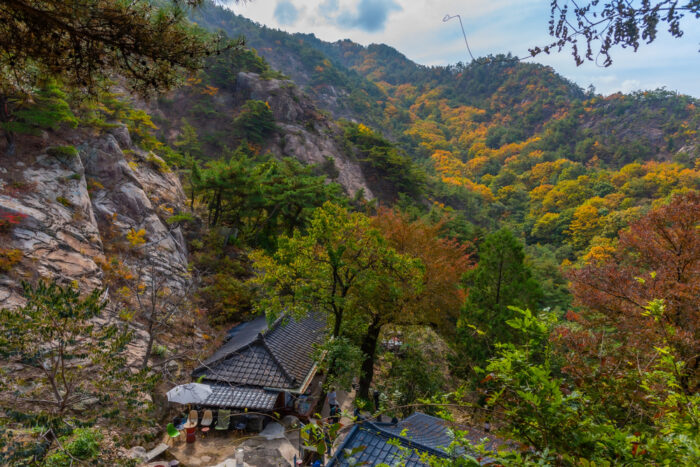
[[(238, 14), (268, 27), (313, 33), (320, 39), (350, 39), (369, 45), (384, 43), (423, 65), (468, 62), (460, 15), (474, 56), (511, 52), (526, 56), (528, 48), (551, 42), (549, 0), (253, 0), (234, 4)], [(656, 89), (700, 97), (700, 20), (688, 20), (685, 35), (665, 31), (638, 52), (617, 49), (610, 67), (587, 62), (577, 67), (568, 51), (540, 55), (530, 61), (552, 66), (587, 88), (610, 94)]]

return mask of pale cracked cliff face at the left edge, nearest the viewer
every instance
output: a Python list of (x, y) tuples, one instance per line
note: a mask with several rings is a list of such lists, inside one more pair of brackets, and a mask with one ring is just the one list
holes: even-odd
[[(0, 211), (26, 216), (2, 245), (20, 250), (22, 260), (0, 274), (0, 307), (22, 302), (23, 279), (104, 287), (101, 265), (115, 260), (132, 269), (148, 264), (148, 271), (184, 289), (186, 245), (179, 229), (165, 221), (184, 205), (177, 176), (135, 147), (124, 127), (66, 142), (77, 156), (41, 143), (13, 159), (0, 157)], [(138, 254), (127, 254), (132, 230), (144, 231)]]

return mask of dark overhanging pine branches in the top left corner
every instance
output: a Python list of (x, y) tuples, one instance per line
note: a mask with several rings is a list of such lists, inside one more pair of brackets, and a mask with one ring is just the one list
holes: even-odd
[(12, 0), (0, 9), (2, 84), (50, 75), (94, 88), (118, 74), (135, 90), (172, 87), (179, 70), (201, 68), (219, 49), (186, 7), (202, 0)]

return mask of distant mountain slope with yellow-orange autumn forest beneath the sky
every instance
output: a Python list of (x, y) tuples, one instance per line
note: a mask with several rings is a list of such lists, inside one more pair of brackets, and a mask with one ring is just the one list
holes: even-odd
[(507, 56), (425, 67), (386, 45), (288, 34), (211, 5), (195, 20), (244, 35), (320, 108), (393, 141), (427, 174), (414, 200), (508, 225), (558, 261), (607, 247), (655, 199), (700, 183), (688, 96), (605, 97)]

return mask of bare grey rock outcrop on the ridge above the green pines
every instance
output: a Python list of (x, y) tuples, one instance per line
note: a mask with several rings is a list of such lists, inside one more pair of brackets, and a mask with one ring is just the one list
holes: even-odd
[[(319, 111), (309, 96), (289, 80), (264, 78), (257, 73), (240, 72), (235, 84), (208, 95), (193, 87), (184, 87), (159, 102), (141, 103), (155, 121), (161, 136), (177, 146), (183, 119), (193, 125), (205, 147), (205, 157), (220, 156), (216, 147), (235, 148), (238, 142), (231, 125), (240, 106), (248, 99), (270, 105), (277, 130), (260, 150), (278, 157), (294, 157), (306, 164), (318, 164), (337, 175), (336, 181), (350, 196), (362, 190), (366, 199), (375, 197), (355, 155), (343, 145), (342, 130)], [(206, 108), (208, 113), (193, 113)], [(214, 148), (207, 141), (215, 139)], [(334, 166), (332, 167), (331, 164)]]

